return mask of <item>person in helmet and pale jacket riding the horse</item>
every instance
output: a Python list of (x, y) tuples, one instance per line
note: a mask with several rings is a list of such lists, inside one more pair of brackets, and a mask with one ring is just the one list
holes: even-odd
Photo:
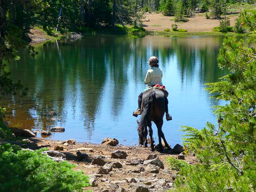
[[(159, 68), (158, 58), (155, 56), (152, 56), (149, 58), (148, 63), (150, 65), (150, 69), (148, 69), (148, 71), (147, 71), (147, 75), (145, 77), (144, 83), (148, 84), (148, 87), (153, 87), (157, 84), (163, 85), (163, 83), (162, 83), (163, 72)], [(138, 97), (138, 109), (135, 110), (132, 114), (135, 117), (137, 117), (138, 115), (141, 115), (142, 94), (143, 94), (143, 92), (141, 92)], [(166, 102), (165, 102), (165, 116), (166, 116), (167, 121), (172, 120), (172, 116), (170, 116), (170, 114), (168, 112), (167, 98), (166, 98)]]

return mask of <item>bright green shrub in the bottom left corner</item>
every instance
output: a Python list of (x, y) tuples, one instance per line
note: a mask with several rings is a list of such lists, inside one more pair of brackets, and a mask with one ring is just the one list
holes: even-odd
[(42, 150), (0, 146), (0, 191), (82, 191), (89, 177), (67, 161), (54, 162)]

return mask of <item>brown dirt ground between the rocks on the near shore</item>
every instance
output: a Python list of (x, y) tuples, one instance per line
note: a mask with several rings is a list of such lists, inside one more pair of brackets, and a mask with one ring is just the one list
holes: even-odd
[[(76, 165), (75, 170), (89, 175), (93, 186), (86, 187), (85, 190), (105, 192), (137, 191), (138, 187), (136, 185), (144, 185), (148, 191), (167, 191), (173, 187), (173, 182), (177, 176), (177, 171), (166, 163), (166, 157), (178, 158), (178, 155), (171, 155), (167, 150), (165, 150), (165, 153), (159, 153), (158, 151), (151, 151), (150, 148), (138, 146), (92, 145), (90, 143), (76, 143), (74, 140), (53, 141), (44, 138), (29, 138), (26, 141), (29, 141), (33, 146), (36, 143), (36, 146), (47, 146), (49, 150), (59, 151), (67, 155), (68, 162)], [(113, 158), (111, 153), (115, 150), (124, 151), (127, 157), (125, 159)], [(81, 159), (78, 161), (78, 151), (82, 154), (86, 153), (88, 156), (82, 161)], [(147, 166), (143, 165), (143, 161), (146, 161), (150, 154), (155, 154), (164, 164), (164, 169), (158, 169), (158, 173), (150, 172), (154, 167), (148, 170)], [(95, 155), (103, 156), (107, 164), (120, 162), (122, 167), (114, 168), (107, 174), (97, 174), (102, 166), (92, 164), (92, 159)], [(196, 162), (196, 158), (193, 155), (184, 155), (184, 157), (185, 160), (182, 161), (190, 164)], [(134, 164), (134, 162), (140, 163)], [(143, 170), (144, 167), (145, 170)], [(118, 190), (113, 189), (116, 185), (119, 187)]]

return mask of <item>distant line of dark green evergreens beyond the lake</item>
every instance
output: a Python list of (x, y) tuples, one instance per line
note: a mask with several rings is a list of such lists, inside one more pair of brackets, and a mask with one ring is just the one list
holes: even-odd
[[(226, 7), (234, 3), (254, 3), (255, 0), (5, 0), (1, 14), (27, 32), (31, 26), (47, 33), (60, 31), (83, 32), (115, 30), (116, 25), (141, 26), (143, 13), (162, 12), (175, 20), (190, 17), (193, 11), (207, 12), (211, 18), (220, 18)], [(6, 17), (1, 16), (1, 20)], [(2, 22), (2, 21), (1, 21)], [(26, 34), (26, 33), (24, 33)]]

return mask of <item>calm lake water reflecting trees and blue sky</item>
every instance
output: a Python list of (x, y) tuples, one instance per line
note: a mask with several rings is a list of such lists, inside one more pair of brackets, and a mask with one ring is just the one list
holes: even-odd
[[(35, 58), (21, 51), (21, 59), (9, 66), (13, 80), (28, 87), (28, 95), (2, 98), (0, 106), (8, 109), (11, 126), (65, 127), (50, 139), (101, 143), (110, 137), (123, 145), (138, 145), (138, 118), (132, 112), (146, 87), (147, 60), (155, 55), (170, 93), (173, 120), (164, 119), (163, 132), (173, 147), (181, 143), (181, 125), (202, 129), (207, 121), (217, 122), (212, 106), (218, 103), (204, 89), (205, 83), (225, 75), (217, 65), (222, 40), (223, 36), (92, 36), (37, 45)], [(51, 110), (57, 116), (44, 115)], [(155, 125), (153, 131), (157, 137)]]

